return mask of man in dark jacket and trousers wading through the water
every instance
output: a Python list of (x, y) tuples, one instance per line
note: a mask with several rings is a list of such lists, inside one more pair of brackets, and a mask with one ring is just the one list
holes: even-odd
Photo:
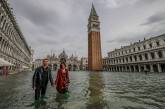
[(43, 66), (36, 68), (32, 81), (32, 87), (35, 90), (35, 101), (38, 101), (40, 97), (41, 99), (45, 98), (48, 81), (50, 81), (51, 86), (54, 86), (48, 59), (43, 60)]

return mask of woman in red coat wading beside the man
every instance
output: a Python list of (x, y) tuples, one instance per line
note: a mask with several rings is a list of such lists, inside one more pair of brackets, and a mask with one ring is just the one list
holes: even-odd
[(55, 80), (57, 91), (62, 94), (68, 92), (69, 83), (70, 80), (69, 80), (68, 69), (66, 69), (65, 63), (62, 63), (60, 65), (60, 69), (57, 72), (57, 76)]

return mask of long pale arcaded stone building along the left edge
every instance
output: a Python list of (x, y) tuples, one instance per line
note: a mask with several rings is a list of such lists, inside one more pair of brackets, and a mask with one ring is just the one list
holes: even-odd
[(10, 62), (10, 70), (30, 67), (31, 49), (6, 0), (0, 0), (0, 58)]

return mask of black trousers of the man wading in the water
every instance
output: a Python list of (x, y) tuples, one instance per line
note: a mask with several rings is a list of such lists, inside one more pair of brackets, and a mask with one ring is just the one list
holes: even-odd
[(39, 100), (40, 97), (44, 97), (46, 94), (47, 85), (36, 87), (35, 89), (35, 100)]

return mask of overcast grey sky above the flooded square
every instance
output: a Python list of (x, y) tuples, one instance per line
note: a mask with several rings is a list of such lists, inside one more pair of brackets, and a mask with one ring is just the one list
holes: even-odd
[(101, 22), (102, 54), (165, 33), (165, 0), (9, 0), (34, 57), (87, 57), (92, 1)]

